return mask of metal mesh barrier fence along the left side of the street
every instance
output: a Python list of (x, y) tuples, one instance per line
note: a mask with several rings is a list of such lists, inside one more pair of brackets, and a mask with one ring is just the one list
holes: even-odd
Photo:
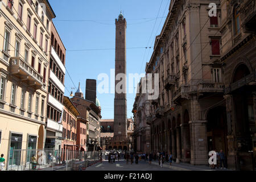
[(100, 160), (97, 151), (9, 150), (6, 171), (82, 171)]

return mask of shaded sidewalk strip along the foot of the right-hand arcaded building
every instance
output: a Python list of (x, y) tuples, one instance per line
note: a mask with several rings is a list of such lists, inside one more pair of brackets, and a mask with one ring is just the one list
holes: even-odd
[[(152, 161), (152, 164), (159, 166), (158, 162)], [(171, 168), (175, 171), (232, 171), (230, 169), (211, 169), (209, 166), (193, 166), (192, 164), (188, 163), (172, 163), (172, 166), (170, 166), (170, 163), (164, 162), (163, 167)]]

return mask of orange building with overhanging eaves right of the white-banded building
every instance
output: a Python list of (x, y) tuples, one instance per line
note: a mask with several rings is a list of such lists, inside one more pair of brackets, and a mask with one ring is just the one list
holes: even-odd
[(61, 159), (64, 161), (72, 159), (75, 156), (77, 117), (80, 113), (73, 102), (66, 96), (64, 96), (63, 105), (63, 141), (61, 142)]

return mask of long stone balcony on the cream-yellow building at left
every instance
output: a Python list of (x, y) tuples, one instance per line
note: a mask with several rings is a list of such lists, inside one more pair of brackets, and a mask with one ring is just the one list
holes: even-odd
[(43, 86), (43, 77), (20, 57), (10, 58), (10, 73), (25, 82), (28, 86), (39, 90)]

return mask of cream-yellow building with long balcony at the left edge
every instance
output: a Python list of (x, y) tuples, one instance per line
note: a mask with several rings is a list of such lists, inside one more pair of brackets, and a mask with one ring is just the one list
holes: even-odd
[(52, 18), (48, 1), (0, 0), (0, 153), (8, 168), (28, 155), (15, 150), (44, 146)]

